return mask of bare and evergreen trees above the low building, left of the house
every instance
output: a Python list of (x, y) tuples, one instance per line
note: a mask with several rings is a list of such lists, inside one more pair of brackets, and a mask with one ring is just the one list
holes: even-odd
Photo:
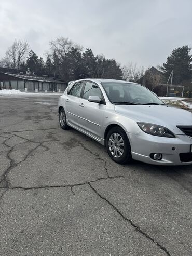
[[(22, 56), (17, 53), (18, 44), (23, 46)], [(122, 79), (123, 76), (120, 64), (115, 59), (106, 59), (103, 55), (94, 56), (91, 49), (83, 51), (83, 47), (64, 37), (50, 42), (50, 52), (45, 62), (30, 50), (27, 42), (15, 41), (0, 63), (6, 68), (30, 68), (36, 74), (52, 74), (66, 82), (86, 77)]]

